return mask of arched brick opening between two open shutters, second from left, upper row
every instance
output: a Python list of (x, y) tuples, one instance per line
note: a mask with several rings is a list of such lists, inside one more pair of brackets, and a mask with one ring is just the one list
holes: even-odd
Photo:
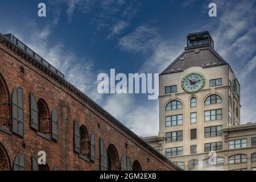
[(42, 99), (38, 100), (38, 117), (39, 117), (39, 132), (51, 137), (52, 126), (49, 114), (49, 109), (46, 102)]

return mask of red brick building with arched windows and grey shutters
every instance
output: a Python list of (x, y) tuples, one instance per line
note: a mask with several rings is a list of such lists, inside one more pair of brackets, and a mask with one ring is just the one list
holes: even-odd
[(0, 171), (32, 169), (179, 170), (15, 36), (0, 34)]

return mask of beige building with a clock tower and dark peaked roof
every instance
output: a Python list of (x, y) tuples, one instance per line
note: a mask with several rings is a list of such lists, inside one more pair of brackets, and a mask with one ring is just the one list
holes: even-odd
[(240, 84), (209, 32), (188, 34), (159, 75), (159, 135), (144, 140), (184, 170), (256, 170), (256, 124), (240, 125), (240, 107)]

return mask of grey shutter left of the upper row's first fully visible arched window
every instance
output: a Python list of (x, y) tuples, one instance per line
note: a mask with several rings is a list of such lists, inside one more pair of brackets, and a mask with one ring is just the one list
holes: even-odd
[(30, 125), (32, 129), (39, 130), (38, 103), (33, 93), (30, 93)]

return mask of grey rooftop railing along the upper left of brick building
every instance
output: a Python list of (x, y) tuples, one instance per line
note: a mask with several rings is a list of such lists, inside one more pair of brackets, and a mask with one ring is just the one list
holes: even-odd
[(17, 39), (13, 34), (6, 34), (6, 39), (18, 46), (24, 52), (28, 53), (31, 57), (33, 57), (36, 61), (44, 65), (44, 67), (48, 68), (50, 71), (55, 73), (57, 76), (61, 78), (65, 78), (64, 74), (58, 71), (53, 65), (49, 64), (43, 57), (39, 56), (36, 52), (34, 52), (31, 48), (27, 47), (26, 44), (22, 43), (19, 39)]

